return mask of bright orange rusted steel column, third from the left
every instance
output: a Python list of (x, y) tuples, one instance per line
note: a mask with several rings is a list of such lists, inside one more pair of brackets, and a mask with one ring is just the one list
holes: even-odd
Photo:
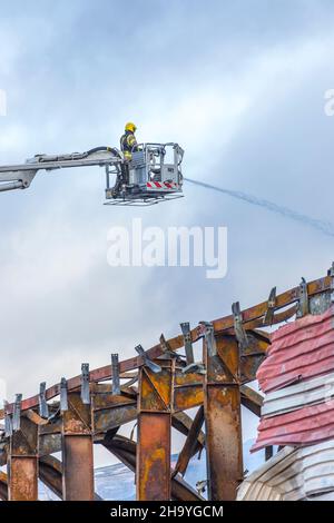
[(161, 371), (144, 366), (139, 375), (136, 485), (138, 501), (170, 500), (170, 434), (175, 362)]

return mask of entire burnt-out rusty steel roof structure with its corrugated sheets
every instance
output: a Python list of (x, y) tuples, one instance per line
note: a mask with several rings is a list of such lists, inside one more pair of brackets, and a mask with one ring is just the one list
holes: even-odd
[[(209, 500), (331, 497), (333, 408), (325, 385), (334, 372), (333, 293), (334, 266), (283, 294), (273, 288), (248, 309), (235, 303), (228, 316), (193, 329), (181, 323), (174, 338), (161, 335), (148, 351), (137, 345), (136, 357), (119, 362), (112, 354), (104, 367), (82, 364), (78, 376), (49, 388), (41, 383), (36, 396), (17, 394), (0, 411), (0, 465), (8, 471), (0, 474), (0, 499), (35, 501), (38, 480), (66, 501), (98, 499), (95, 445), (135, 472), (140, 501), (203, 500), (203, 484)], [(256, 376), (265, 399), (248, 385)], [(265, 447), (268, 458), (248, 476), (242, 405), (262, 416), (254, 451)], [(136, 441), (119, 434), (129, 422), (138, 423)], [(186, 436), (173, 470), (171, 427)], [(273, 455), (274, 445), (285, 447)], [(204, 447), (207, 477), (196, 492), (183, 476)]]

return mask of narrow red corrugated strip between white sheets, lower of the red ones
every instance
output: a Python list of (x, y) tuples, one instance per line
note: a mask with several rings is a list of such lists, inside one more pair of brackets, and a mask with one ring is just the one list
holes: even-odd
[(334, 438), (334, 401), (264, 417), (252, 452), (268, 445), (307, 445)]

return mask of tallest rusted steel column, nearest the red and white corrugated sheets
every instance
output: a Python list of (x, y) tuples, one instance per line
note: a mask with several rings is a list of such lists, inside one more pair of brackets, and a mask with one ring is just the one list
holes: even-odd
[(216, 347), (212, 356), (204, 339), (208, 496), (232, 501), (243, 481), (239, 347), (232, 336), (216, 337)]

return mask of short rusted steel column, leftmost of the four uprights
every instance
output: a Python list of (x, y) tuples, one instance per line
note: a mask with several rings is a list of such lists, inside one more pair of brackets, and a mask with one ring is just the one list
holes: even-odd
[(16, 414), (8, 455), (8, 500), (38, 500), (38, 425)]

